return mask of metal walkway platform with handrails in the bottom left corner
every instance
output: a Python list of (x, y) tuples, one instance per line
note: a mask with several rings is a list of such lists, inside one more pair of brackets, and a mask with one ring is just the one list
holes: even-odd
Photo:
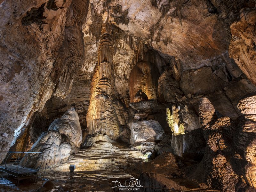
[[(10, 175), (13, 175), (14, 177), (29, 175), (31, 173), (36, 174), (42, 165), (42, 163), (41, 163), (41, 165), (38, 169), (32, 169), (32, 168), (26, 167), (26, 164), (28, 163), (28, 159), (29, 159), (29, 154), (42, 153), (42, 152), (8, 152), (8, 153), (9, 153), (9, 155), (7, 156), (6, 159), (8, 159), (11, 154), (18, 154), (19, 156), (17, 155), (18, 158), (16, 159), (16, 161), (14, 163), (6, 163), (6, 160), (5, 160), (4, 164), (0, 165), (0, 171), (5, 172)], [(19, 162), (21, 159), (20, 154), (23, 154), (23, 155), (25, 154), (25, 156), (26, 155), (28, 156), (27, 162), (24, 166), (19, 165)], [(42, 156), (42, 162), (43, 162), (43, 156)]]

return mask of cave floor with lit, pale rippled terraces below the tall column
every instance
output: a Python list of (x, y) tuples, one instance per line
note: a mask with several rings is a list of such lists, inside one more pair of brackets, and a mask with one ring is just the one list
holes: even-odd
[[(168, 155), (163, 158), (169, 158)], [(170, 158), (169, 158), (170, 159)], [(54, 187), (48, 191), (119, 191), (113, 188), (115, 183), (125, 184), (125, 180), (139, 178), (144, 187), (139, 191), (168, 191), (157, 188), (178, 189), (182, 191), (209, 191), (199, 189), (198, 186), (184, 179), (170, 177), (170, 171), (175, 172), (176, 165), (164, 163), (158, 157), (156, 162), (149, 161), (139, 151), (125, 148), (121, 145), (112, 145), (108, 142), (95, 143), (91, 148), (80, 150), (63, 164), (46, 168), (38, 172), (38, 182), (21, 181), (17, 187), (14, 181), (0, 180), (0, 191), (47, 191), (41, 188), (42, 178), (51, 180)], [(76, 164), (75, 174), (70, 190), (69, 165)], [(161, 169), (157, 169), (162, 164)], [(114, 181), (118, 182), (114, 182)], [(163, 185), (161, 183), (168, 183)], [(116, 184), (117, 185), (117, 184)], [(146, 187), (154, 187), (147, 188)], [(215, 190), (214, 190), (215, 191)]]

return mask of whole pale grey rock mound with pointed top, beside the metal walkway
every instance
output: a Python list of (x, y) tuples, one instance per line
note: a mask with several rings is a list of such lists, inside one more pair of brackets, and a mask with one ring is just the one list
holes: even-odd
[(43, 132), (34, 143), (29, 152), (42, 152), (23, 157), (21, 166), (38, 168), (42, 162), (42, 168), (47, 163), (54, 166), (65, 162), (68, 157), (79, 151), (82, 143), (82, 130), (75, 108), (70, 108), (60, 118), (54, 120), (48, 131)]

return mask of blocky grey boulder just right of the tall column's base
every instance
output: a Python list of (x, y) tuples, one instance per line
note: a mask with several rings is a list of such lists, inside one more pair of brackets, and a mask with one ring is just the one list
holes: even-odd
[(131, 144), (142, 141), (156, 141), (164, 134), (164, 130), (157, 121), (130, 122)]

